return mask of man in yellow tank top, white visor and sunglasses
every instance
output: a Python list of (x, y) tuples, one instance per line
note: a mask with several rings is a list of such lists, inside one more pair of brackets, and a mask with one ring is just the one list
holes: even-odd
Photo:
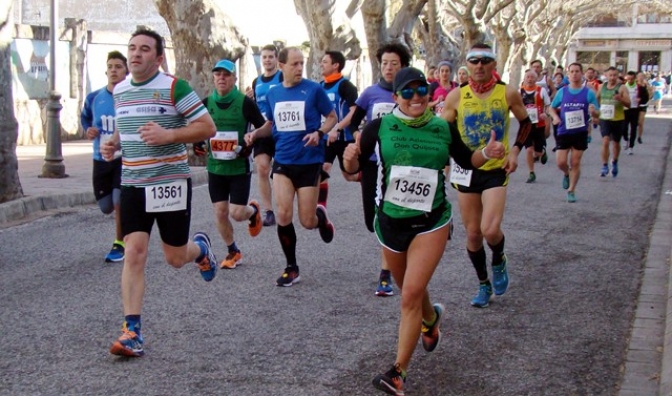
[[(478, 43), (469, 50), (469, 83), (448, 94), (441, 115), (457, 128), (467, 147), (473, 150), (483, 147), (492, 131), (506, 147), (506, 158), (493, 158), (473, 171), (465, 171), (454, 164), (450, 167), (451, 183), (458, 191), (460, 213), (467, 233), (467, 253), (479, 280), (478, 293), (471, 304), (479, 308), (488, 306), (493, 288), (499, 296), (509, 285), (501, 223), (509, 174), (518, 167), (518, 155), (532, 129), (520, 92), (507, 87), (493, 75), (497, 67), (495, 59), (495, 53), (487, 44)], [(509, 111), (520, 122), (516, 142), (510, 150)], [(488, 278), (483, 239), (492, 250), (492, 284)]]

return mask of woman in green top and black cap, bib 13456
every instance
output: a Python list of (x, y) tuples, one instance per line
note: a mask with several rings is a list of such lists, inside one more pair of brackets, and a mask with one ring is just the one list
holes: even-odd
[(396, 362), (374, 378), (373, 386), (403, 395), (418, 337), (422, 335), (427, 352), (436, 350), (441, 341), (445, 308), (431, 303), (427, 285), (445, 250), (452, 216), (443, 168), (451, 156), (472, 169), (489, 158), (503, 158), (505, 150), (494, 133), (487, 146), (469, 150), (457, 131), (430, 110), (429, 86), (420, 70), (401, 69), (394, 79), (394, 92), (398, 107), (369, 122), (361, 140), (348, 146), (344, 159), (346, 170), (356, 173), (374, 151), (378, 154), (378, 189), (384, 193), (376, 198), (374, 226), (403, 304)]

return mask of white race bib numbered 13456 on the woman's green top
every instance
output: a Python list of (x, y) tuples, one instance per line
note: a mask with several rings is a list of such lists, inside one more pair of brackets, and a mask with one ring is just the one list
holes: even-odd
[(408, 209), (431, 212), (436, 185), (434, 169), (393, 165), (385, 201)]

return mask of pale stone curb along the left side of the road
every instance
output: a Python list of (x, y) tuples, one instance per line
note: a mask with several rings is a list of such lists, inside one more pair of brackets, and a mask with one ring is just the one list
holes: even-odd
[[(192, 187), (208, 183), (208, 172), (204, 167), (191, 169), (191, 183)], [(24, 197), (0, 204), (0, 226), (23, 220), (39, 212), (94, 205), (95, 203), (96, 198), (91, 191), (40, 194)]]

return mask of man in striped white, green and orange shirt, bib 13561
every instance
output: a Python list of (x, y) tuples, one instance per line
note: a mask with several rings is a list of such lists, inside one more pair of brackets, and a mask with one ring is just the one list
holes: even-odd
[(125, 321), (112, 344), (114, 355), (144, 354), (141, 333), (145, 265), (149, 237), (156, 222), (166, 262), (175, 268), (195, 261), (211, 281), (217, 259), (203, 232), (189, 240), (191, 179), (185, 143), (215, 134), (215, 124), (189, 84), (159, 71), (163, 37), (144, 28), (128, 43), (131, 78), (114, 87), (117, 131), (100, 151), (110, 161), (122, 149), (121, 230), (126, 257), (121, 273)]

